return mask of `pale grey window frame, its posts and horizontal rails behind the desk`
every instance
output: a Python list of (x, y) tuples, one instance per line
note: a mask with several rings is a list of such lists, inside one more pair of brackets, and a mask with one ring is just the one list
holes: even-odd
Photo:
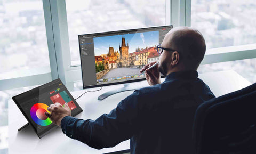
[[(0, 91), (41, 85), (60, 78), (69, 91), (82, 80), (81, 66), (71, 65), (65, 0), (42, 0), (51, 72), (0, 80)], [(178, 6), (178, 7), (177, 7)], [(190, 26), (191, 0), (165, 1), (166, 25)], [(220, 47), (206, 50), (201, 64), (256, 58), (256, 44)]]

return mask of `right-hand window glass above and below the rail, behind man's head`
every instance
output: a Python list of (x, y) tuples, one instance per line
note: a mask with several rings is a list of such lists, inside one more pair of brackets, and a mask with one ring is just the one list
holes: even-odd
[[(256, 1), (191, 0), (191, 27), (203, 34), (208, 52), (210, 48), (228, 47), (256, 43)], [(213, 49), (214, 50), (214, 49)], [(242, 50), (239, 47), (239, 50)], [(254, 48), (255, 50), (255, 48)], [(221, 48), (220, 50), (221, 51)], [(217, 52), (218, 52), (217, 51)], [(229, 52), (225, 48), (225, 52)], [(240, 51), (243, 56), (244, 51)], [(207, 52), (206, 52), (207, 54)], [(250, 56), (252, 54), (250, 53)], [(240, 57), (241, 58), (241, 57)], [(198, 72), (233, 69), (251, 83), (255, 83), (255, 56), (253, 59), (204, 64)]]

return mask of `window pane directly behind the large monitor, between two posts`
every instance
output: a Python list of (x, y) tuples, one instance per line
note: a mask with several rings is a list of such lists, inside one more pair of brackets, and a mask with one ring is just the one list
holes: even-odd
[(78, 34), (165, 25), (165, 0), (67, 0), (71, 64), (80, 64)]

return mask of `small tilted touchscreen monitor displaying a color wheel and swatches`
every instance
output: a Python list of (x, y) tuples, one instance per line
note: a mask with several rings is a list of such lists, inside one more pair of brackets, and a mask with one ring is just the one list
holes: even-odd
[(50, 118), (44, 115), (44, 112), (49, 112), (47, 107), (50, 104), (58, 102), (63, 106), (67, 102), (71, 110), (71, 116), (76, 116), (83, 111), (60, 79), (13, 96), (12, 99), (39, 138), (58, 127), (52, 123)]

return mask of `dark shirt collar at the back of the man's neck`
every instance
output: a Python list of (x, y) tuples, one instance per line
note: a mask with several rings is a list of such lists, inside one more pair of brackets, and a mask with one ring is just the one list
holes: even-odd
[(180, 78), (190, 79), (190, 78), (197, 78), (197, 77), (198, 77), (198, 72), (195, 70), (177, 71), (177, 72), (172, 72), (169, 75), (167, 75), (165, 78), (165, 81), (180, 79)]

